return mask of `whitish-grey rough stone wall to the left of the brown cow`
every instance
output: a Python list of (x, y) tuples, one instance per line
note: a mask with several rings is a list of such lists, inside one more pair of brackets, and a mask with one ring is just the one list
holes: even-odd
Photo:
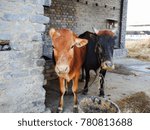
[(50, 0), (1, 0), (0, 40), (10, 50), (0, 51), (0, 112), (45, 110), (42, 34), (49, 18), (43, 5)]

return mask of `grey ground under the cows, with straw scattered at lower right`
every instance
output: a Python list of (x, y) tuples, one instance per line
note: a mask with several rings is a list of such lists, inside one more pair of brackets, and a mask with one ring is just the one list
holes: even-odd
[[(108, 72), (105, 78), (105, 98), (118, 104), (121, 112), (150, 112), (150, 62), (132, 58), (115, 59), (116, 69)], [(95, 74), (91, 72), (90, 84)], [(52, 80), (46, 86), (46, 106), (56, 112), (59, 100), (58, 80)], [(98, 96), (98, 80), (96, 80), (87, 95), (78, 94), (79, 102), (87, 96)], [(84, 82), (79, 82), (79, 91)], [(144, 109), (143, 109), (144, 108)], [(64, 96), (64, 112), (72, 113), (73, 95), (71, 84), (69, 93)], [(80, 112), (80, 111), (79, 111)]]

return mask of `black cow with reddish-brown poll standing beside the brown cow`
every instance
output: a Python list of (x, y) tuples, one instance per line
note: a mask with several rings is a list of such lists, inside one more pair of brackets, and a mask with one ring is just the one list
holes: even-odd
[(100, 89), (99, 96), (104, 97), (104, 77), (107, 70), (114, 69), (112, 61), (113, 48), (116, 36), (110, 30), (103, 30), (96, 33), (85, 32), (79, 36), (88, 40), (85, 62), (82, 68), (82, 79), (84, 79), (84, 70), (86, 72), (86, 83), (83, 94), (88, 92), (88, 82), (90, 79), (89, 71), (95, 72), (100, 69)]

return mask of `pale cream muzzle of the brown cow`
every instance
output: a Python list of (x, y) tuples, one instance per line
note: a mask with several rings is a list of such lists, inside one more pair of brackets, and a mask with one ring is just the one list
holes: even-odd
[(59, 75), (61, 74), (68, 74), (70, 70), (70, 67), (68, 65), (56, 65), (55, 71)]

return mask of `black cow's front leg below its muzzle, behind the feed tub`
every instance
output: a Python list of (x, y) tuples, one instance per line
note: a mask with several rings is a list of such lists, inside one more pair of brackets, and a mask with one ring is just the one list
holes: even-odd
[(104, 92), (104, 78), (106, 75), (106, 70), (101, 70), (100, 71), (100, 88), (99, 88), (99, 96), (100, 97), (104, 97), (105, 96), (105, 92)]

